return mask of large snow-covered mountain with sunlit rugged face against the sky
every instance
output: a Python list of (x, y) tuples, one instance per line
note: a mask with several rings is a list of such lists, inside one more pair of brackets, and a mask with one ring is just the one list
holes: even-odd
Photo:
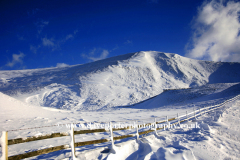
[(156, 51), (63, 68), (0, 71), (0, 92), (29, 104), (96, 110), (134, 104), (163, 89), (240, 82), (240, 63)]

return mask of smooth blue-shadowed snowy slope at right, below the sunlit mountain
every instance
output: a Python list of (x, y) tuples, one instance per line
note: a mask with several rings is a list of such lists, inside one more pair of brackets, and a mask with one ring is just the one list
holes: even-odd
[(206, 84), (189, 89), (167, 90), (156, 97), (127, 107), (138, 109), (155, 109), (174, 106), (176, 108), (177, 106), (181, 106), (186, 103), (192, 104), (193, 106), (198, 102), (216, 99), (220, 100), (233, 97), (238, 94), (240, 94), (240, 83)]

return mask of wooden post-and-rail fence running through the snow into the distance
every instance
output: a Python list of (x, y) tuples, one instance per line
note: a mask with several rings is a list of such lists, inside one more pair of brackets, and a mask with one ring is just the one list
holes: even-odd
[[(74, 131), (74, 127), (73, 127), (74, 125), (72, 125), (70, 133), (52, 133), (52, 134), (49, 134), (49, 135), (43, 135), (43, 136), (38, 136), (38, 137), (17, 138), (17, 139), (10, 139), (10, 140), (8, 140), (8, 132), (4, 131), (2, 133), (2, 136), (3, 136), (2, 139), (5, 139), (5, 143), (2, 144), (2, 159), (6, 159), (6, 160), (7, 159), (9, 159), (9, 160), (24, 159), (24, 158), (29, 158), (29, 157), (41, 155), (41, 154), (46, 154), (46, 153), (50, 153), (50, 152), (54, 152), (54, 151), (67, 149), (67, 148), (72, 148), (72, 156), (75, 156), (75, 147), (91, 145), (91, 144), (98, 144), (98, 143), (105, 143), (105, 142), (110, 142), (110, 141), (112, 142), (112, 145), (114, 145), (114, 140), (120, 140), (120, 139), (124, 139), (124, 138), (135, 137), (135, 136), (138, 139), (139, 135), (148, 134), (148, 133), (154, 132), (154, 131), (156, 132), (157, 130), (163, 129), (163, 127), (158, 128), (157, 124), (170, 123), (170, 122), (172, 122), (172, 123), (170, 123), (172, 125), (180, 124), (184, 121), (188, 121), (192, 118), (196, 118), (197, 116), (201, 116), (202, 114), (206, 114), (207, 112), (210, 112), (210, 111), (215, 110), (219, 107), (222, 107), (224, 104), (232, 102), (232, 101), (238, 99), (239, 97), (240, 97), (240, 95), (237, 95), (237, 96), (235, 96), (235, 97), (233, 97), (229, 100), (224, 101), (223, 103), (216, 104), (216, 105), (213, 105), (213, 106), (199, 108), (197, 110), (195, 110), (195, 108), (194, 108), (193, 111), (190, 112), (190, 113), (188, 113), (186, 111), (186, 114), (183, 114), (183, 115), (177, 114), (177, 116), (173, 117), (173, 118), (168, 118), (168, 116), (166, 116), (166, 118), (164, 120), (161, 120), (161, 121), (156, 121), (156, 118), (160, 118), (160, 117), (155, 117), (154, 122), (146, 123), (146, 124), (144, 123), (144, 126), (151, 125), (151, 126), (153, 126), (153, 128), (151, 127), (151, 129), (146, 130), (146, 131), (142, 131), (142, 132), (138, 132), (138, 129), (139, 129), (139, 125), (143, 125), (143, 124), (137, 124), (136, 128), (135, 128), (135, 126), (134, 127), (133, 126), (128, 126), (128, 127), (125, 127), (125, 128), (112, 128), (112, 123), (111, 122), (109, 123), (110, 124), (109, 125), (110, 126), (109, 130), (106, 130), (106, 129), (90, 129), (90, 130)], [(128, 134), (128, 135), (121, 135), (121, 136), (114, 137), (113, 131), (129, 130), (129, 129), (133, 129), (133, 128), (136, 129), (136, 134)], [(74, 135), (96, 133), (96, 132), (110, 132), (111, 136), (110, 136), (109, 139), (99, 139), (99, 140), (85, 141), (85, 142), (75, 142), (75, 140), (74, 140)], [(69, 135), (72, 136), (72, 141), (73, 141), (72, 144), (73, 145), (61, 145), (61, 146), (46, 148), (46, 149), (42, 149), (42, 150), (37, 150), (37, 151), (33, 151), (33, 152), (28, 152), (28, 153), (23, 153), (23, 154), (8, 157), (8, 145), (15, 145), (15, 144), (19, 144), (19, 143), (26, 143), (26, 142), (31, 142), (31, 141), (38, 141), (38, 140), (44, 140), (44, 139), (50, 139), (50, 138), (56, 138), (56, 137), (69, 136)]]

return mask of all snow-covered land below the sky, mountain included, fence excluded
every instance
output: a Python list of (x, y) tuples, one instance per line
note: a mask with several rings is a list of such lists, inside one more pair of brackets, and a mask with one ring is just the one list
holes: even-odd
[[(240, 63), (198, 61), (155, 51), (63, 68), (0, 71), (0, 131), (15, 139), (69, 132), (65, 124), (71, 123), (152, 123), (239, 94)], [(238, 159), (239, 103), (188, 122), (197, 122), (200, 129), (175, 128), (140, 136), (138, 141), (136, 137), (118, 140), (115, 154), (107, 152), (111, 142), (77, 147), (76, 155), (87, 160)], [(126, 134), (136, 130), (114, 131), (114, 136)], [(76, 135), (75, 141), (109, 138), (109, 132), (100, 132)], [(70, 136), (64, 136), (10, 145), (8, 151), (12, 156), (70, 142)], [(71, 149), (29, 159), (69, 157)]]

